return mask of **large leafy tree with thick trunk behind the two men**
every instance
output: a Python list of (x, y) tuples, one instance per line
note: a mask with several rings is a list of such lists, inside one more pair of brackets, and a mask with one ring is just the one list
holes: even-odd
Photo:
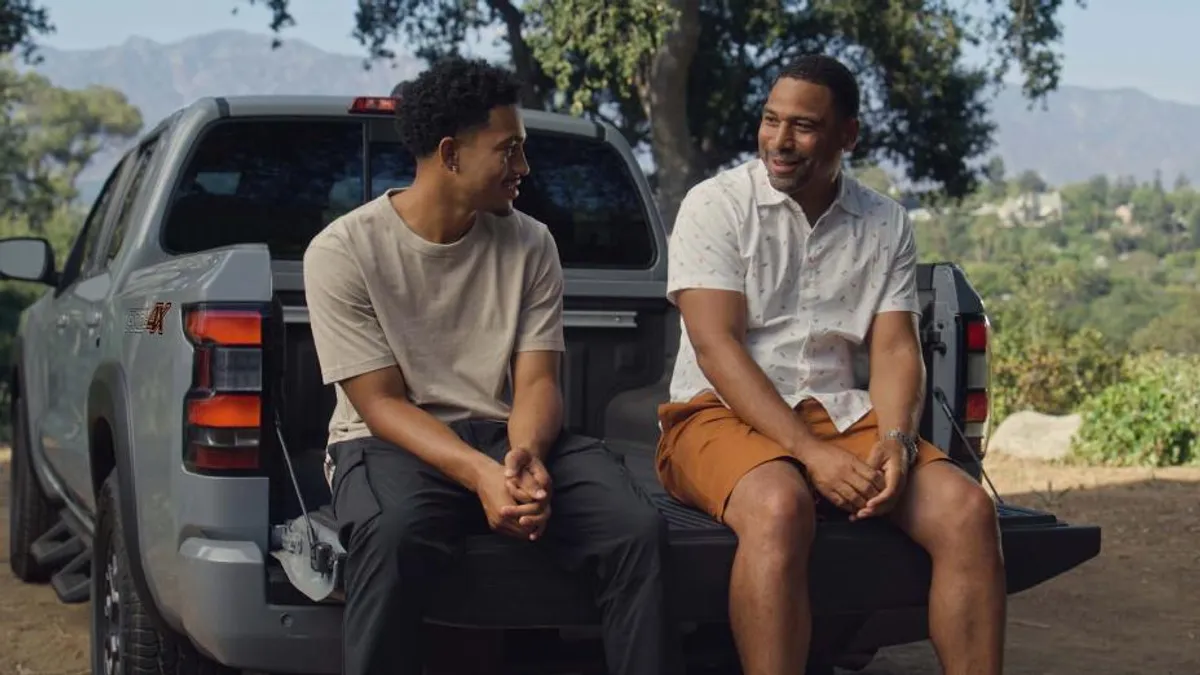
[[(265, 6), (276, 36), (295, 24), (289, 0)], [(1075, 0), (1080, 6), (1084, 0)], [(697, 180), (754, 150), (760, 108), (791, 58), (844, 59), (864, 89), (853, 161), (889, 161), (950, 197), (974, 187), (972, 160), (990, 147), (986, 96), (1016, 71), (1031, 102), (1058, 83), (1063, 0), (361, 0), (365, 62), (402, 40), (426, 59), (494, 30), (527, 83), (523, 104), (602, 118), (655, 162), (660, 207), (673, 217)], [(53, 30), (34, 0), (0, 0), (0, 50)], [(979, 65), (965, 52), (986, 54)]]

